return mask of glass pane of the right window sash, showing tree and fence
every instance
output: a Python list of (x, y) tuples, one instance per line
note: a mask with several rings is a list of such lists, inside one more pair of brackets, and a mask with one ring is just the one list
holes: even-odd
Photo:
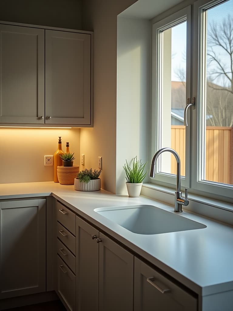
[(233, 0), (204, 17), (202, 179), (233, 184)]

